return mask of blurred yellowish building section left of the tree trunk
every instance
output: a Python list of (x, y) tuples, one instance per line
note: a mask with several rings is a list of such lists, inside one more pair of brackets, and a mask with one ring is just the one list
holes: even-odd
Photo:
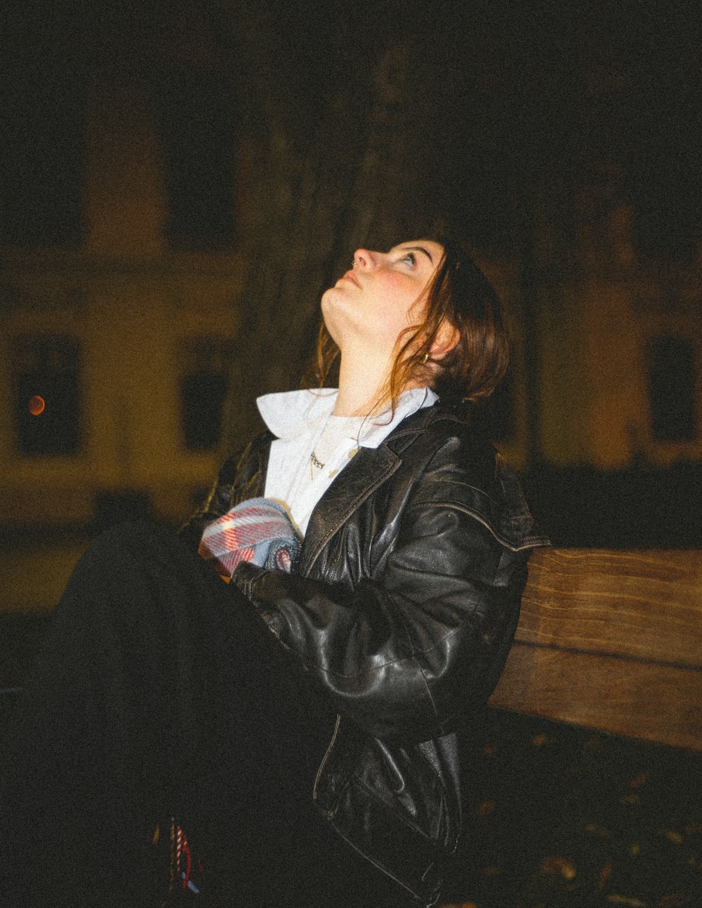
[[(84, 130), (64, 92), (54, 147), (38, 152), (32, 123), (15, 121), (0, 271), (5, 529), (87, 526), (120, 508), (174, 521), (213, 475), (241, 312), (240, 146), (212, 74), (193, 73), (187, 92), (183, 72), (158, 93), (93, 79)], [(84, 146), (62, 154), (72, 128)]]

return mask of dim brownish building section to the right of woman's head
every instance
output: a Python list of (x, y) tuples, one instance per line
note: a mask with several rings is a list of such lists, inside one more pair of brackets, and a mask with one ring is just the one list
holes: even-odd
[[(535, 155), (536, 176), (525, 163), (513, 188), (527, 212), (512, 242), (519, 254), (488, 252), (483, 261), (503, 289), (516, 335), (495, 434), (521, 469), (700, 464), (695, 123), (686, 121), (677, 85), (667, 94), (658, 88), (653, 104), (656, 95), (642, 83), (656, 82), (656, 74), (640, 74), (635, 84), (592, 41), (572, 74), (567, 136), (559, 136), (562, 123), (550, 124), (543, 141), (556, 151)], [(489, 98), (488, 116), (494, 108)], [(487, 246), (507, 245), (500, 234), (508, 229), (488, 229)]]

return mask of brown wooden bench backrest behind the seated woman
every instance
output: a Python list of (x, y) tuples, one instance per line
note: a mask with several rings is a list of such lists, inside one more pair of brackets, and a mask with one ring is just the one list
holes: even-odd
[(490, 703), (702, 750), (702, 552), (537, 550)]

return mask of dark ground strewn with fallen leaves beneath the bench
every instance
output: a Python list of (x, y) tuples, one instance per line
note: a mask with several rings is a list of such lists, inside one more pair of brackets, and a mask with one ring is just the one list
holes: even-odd
[[(0, 723), (44, 613), (0, 616)], [(489, 708), (466, 749), (461, 908), (702, 908), (702, 754)]]

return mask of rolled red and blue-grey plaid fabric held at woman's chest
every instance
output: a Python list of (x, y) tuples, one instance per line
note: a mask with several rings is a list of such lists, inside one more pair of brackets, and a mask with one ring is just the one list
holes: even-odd
[(240, 561), (290, 573), (299, 549), (285, 508), (271, 498), (248, 498), (205, 527), (198, 554), (231, 576)]

